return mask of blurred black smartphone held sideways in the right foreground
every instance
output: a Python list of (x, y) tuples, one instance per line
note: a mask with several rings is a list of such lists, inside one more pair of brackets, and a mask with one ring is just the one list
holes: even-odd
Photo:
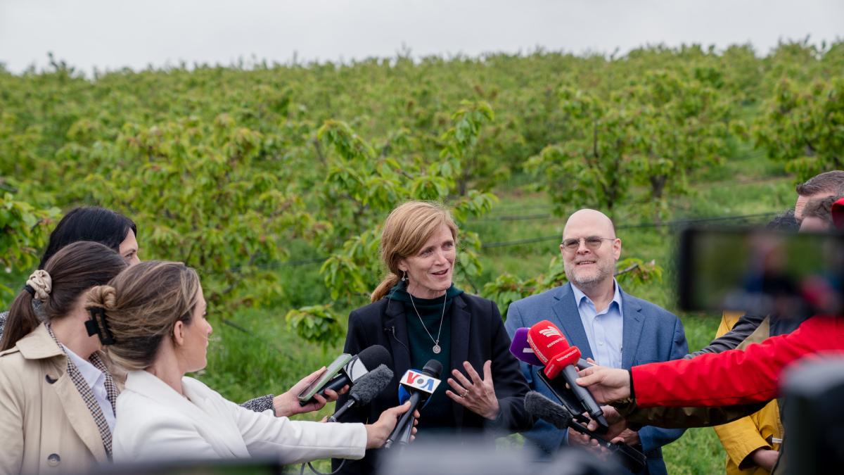
[(844, 309), (844, 235), (760, 228), (690, 228), (680, 234), (679, 304), (809, 316)]

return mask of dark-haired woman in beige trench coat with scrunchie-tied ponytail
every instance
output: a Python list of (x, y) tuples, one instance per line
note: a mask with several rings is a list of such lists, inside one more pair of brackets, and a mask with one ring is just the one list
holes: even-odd
[(118, 389), (84, 304), (126, 266), (103, 244), (73, 243), (14, 299), (0, 344), (0, 473), (82, 473), (111, 459)]

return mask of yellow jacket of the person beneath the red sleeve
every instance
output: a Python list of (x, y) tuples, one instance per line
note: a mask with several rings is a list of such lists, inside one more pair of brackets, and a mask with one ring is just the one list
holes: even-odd
[[(733, 328), (742, 315), (738, 312), (724, 312), (716, 338)], [(751, 342), (762, 341), (769, 334), (768, 319), (765, 319), (738, 348), (744, 349)], [(783, 429), (776, 400), (768, 402), (759, 412), (732, 423), (716, 426), (714, 429), (724, 450), (727, 451), (727, 475), (766, 475), (769, 473), (764, 468), (755, 465), (749, 455), (760, 448), (780, 450)]]

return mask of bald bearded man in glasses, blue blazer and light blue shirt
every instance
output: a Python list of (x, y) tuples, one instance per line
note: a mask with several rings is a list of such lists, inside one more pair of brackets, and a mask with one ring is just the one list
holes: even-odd
[[(613, 368), (630, 369), (636, 364), (683, 358), (688, 352), (683, 324), (653, 303), (621, 290), (615, 281), (615, 265), (621, 255), (621, 239), (609, 217), (596, 210), (579, 210), (569, 217), (560, 244), (565, 286), (523, 298), (507, 310), (506, 330), (512, 337), (517, 328), (549, 319), (565, 334), (582, 358)], [(531, 389), (553, 399), (538, 381), (539, 367), (520, 363)], [(683, 434), (682, 429), (644, 427), (625, 430), (619, 437), (645, 452), (643, 473), (666, 473), (661, 447)], [(555, 429), (538, 421), (524, 433), (526, 444), (554, 453), (560, 445), (587, 445), (582, 435)]]

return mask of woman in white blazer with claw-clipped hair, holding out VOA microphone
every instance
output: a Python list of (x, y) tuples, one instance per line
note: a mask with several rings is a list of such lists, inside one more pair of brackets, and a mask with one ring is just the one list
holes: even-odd
[(111, 358), (128, 370), (116, 404), (115, 461), (360, 458), (409, 407), (367, 425), (291, 421), (246, 410), (185, 376), (205, 367), (212, 329), (199, 277), (181, 263), (133, 265), (92, 289), (86, 308)]

